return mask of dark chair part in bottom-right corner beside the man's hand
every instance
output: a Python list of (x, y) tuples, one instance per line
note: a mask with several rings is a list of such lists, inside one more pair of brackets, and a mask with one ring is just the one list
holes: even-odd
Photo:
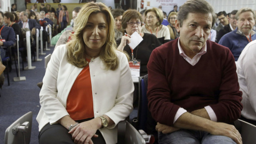
[(240, 132), (243, 140), (243, 144), (254, 144), (256, 143), (256, 126), (247, 123), (241, 119), (235, 121), (235, 127)]

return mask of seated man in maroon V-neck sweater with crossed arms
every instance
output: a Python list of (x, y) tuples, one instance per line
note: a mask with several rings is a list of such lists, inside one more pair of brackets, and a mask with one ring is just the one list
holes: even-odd
[(233, 54), (207, 41), (215, 19), (206, 1), (187, 1), (180, 37), (151, 53), (147, 97), (159, 143), (242, 143), (230, 125), (243, 108)]

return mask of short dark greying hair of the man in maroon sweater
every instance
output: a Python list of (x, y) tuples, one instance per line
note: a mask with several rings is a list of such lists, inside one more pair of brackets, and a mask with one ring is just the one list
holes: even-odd
[(188, 0), (186, 3), (180, 6), (180, 10), (177, 15), (177, 20), (180, 22), (180, 27), (182, 27), (183, 21), (188, 18), (189, 13), (211, 13), (212, 27), (216, 20), (216, 15), (211, 4), (209, 4), (205, 0)]

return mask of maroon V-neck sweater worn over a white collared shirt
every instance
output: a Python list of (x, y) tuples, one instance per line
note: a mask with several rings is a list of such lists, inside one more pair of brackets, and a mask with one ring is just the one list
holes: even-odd
[(173, 125), (177, 110), (211, 106), (218, 122), (231, 123), (241, 115), (242, 92), (233, 54), (207, 41), (207, 51), (195, 66), (179, 53), (178, 38), (157, 47), (148, 62), (148, 107), (153, 118)]

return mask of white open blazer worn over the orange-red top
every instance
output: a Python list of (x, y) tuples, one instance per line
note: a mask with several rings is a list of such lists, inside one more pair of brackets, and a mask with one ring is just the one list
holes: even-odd
[[(106, 70), (100, 57), (89, 63), (94, 117), (107, 115), (115, 123), (100, 129), (106, 143), (111, 144), (117, 142), (116, 124), (133, 109), (134, 86), (129, 64), (125, 54), (119, 51), (116, 54), (119, 59), (116, 70)], [(36, 118), (39, 131), (47, 123), (54, 124), (69, 115), (66, 110), (68, 94), (82, 69), (68, 63), (66, 45), (54, 50), (39, 93), (41, 109)]]

